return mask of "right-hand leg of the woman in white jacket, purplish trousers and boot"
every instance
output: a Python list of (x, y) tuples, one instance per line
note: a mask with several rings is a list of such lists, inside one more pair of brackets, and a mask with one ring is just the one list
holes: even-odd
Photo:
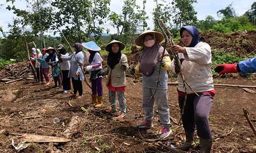
[(209, 126), (209, 113), (213, 97), (209, 94), (202, 94), (194, 99), (195, 122), (197, 134), (200, 137), (200, 152), (209, 153), (212, 145), (212, 136)]

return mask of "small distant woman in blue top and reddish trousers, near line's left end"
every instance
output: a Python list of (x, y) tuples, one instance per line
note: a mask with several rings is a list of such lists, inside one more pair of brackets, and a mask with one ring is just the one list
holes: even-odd
[(49, 56), (48, 53), (46, 53), (46, 48), (42, 48), (42, 56), (38, 59), (38, 61), (41, 64), (41, 73), (44, 75), (46, 80), (46, 85), (48, 86), (50, 84), (50, 76), (49, 76), (49, 64), (45, 61), (45, 59)]

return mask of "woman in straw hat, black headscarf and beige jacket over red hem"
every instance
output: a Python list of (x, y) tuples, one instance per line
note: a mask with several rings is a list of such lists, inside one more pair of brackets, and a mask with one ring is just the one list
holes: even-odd
[(116, 94), (119, 101), (121, 115), (116, 119), (122, 120), (126, 115), (126, 99), (124, 96), (126, 79), (125, 71), (129, 68), (127, 57), (121, 53), (125, 45), (117, 40), (111, 41), (106, 45), (105, 50), (109, 52), (108, 67), (100, 75), (108, 75), (106, 86), (109, 88), (109, 99), (111, 108), (107, 110), (109, 113), (116, 113)]

